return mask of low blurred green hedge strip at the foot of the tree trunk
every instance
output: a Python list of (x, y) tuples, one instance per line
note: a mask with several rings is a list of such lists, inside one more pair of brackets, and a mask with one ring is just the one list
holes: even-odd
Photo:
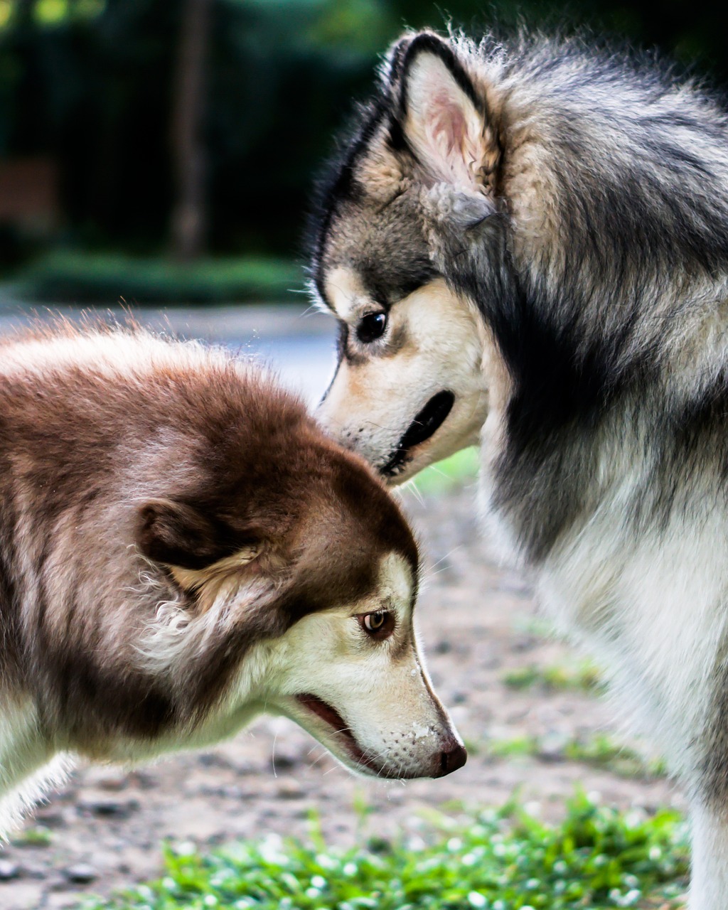
[(267, 257), (200, 258), (192, 262), (113, 253), (56, 250), (17, 276), (27, 299), (49, 303), (135, 304), (290, 301), (304, 286), (288, 260)]

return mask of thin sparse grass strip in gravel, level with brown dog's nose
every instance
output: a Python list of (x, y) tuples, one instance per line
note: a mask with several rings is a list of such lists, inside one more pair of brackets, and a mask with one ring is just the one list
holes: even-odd
[(511, 739), (490, 740), (487, 751), (495, 758), (530, 756), (549, 762), (581, 762), (602, 768), (618, 777), (651, 780), (664, 777), (665, 763), (635, 749), (615, 742), (605, 733), (595, 733), (587, 739), (551, 740), (539, 736), (514, 736)]

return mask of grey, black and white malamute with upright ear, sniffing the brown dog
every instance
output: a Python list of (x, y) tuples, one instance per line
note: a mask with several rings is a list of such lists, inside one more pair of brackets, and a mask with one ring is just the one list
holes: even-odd
[(393, 482), (480, 440), (483, 505), (693, 805), (728, 905), (728, 119), (577, 42), (406, 35), (323, 188), (321, 418)]

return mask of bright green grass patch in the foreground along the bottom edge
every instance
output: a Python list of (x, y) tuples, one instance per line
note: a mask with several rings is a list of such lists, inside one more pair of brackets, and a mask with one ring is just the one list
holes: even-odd
[[(688, 870), (673, 812), (642, 819), (577, 795), (561, 824), (513, 805), (430, 844), (329, 848), (268, 840), (211, 854), (169, 847), (166, 873), (86, 910), (604, 910), (677, 906)], [(650, 902), (649, 904), (645, 902)], [(666, 903), (667, 902), (667, 903)]]

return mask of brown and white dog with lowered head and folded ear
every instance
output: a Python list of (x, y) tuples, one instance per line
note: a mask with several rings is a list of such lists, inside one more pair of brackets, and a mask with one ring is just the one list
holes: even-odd
[(387, 490), (250, 364), (0, 342), (0, 838), (58, 753), (136, 762), (263, 711), (361, 773), (454, 771), (417, 581)]

